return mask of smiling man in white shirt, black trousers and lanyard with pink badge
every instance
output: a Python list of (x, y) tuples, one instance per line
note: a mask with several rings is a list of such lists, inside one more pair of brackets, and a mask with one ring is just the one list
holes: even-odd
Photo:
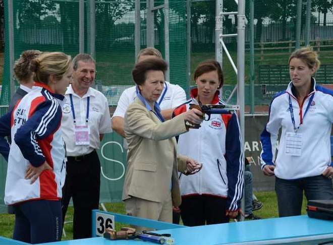
[(66, 181), (63, 188), (63, 220), (72, 197), (73, 238), (91, 237), (91, 210), (98, 209), (100, 162), (96, 149), (103, 134), (112, 132), (105, 96), (91, 88), (95, 60), (89, 54), (73, 59), (73, 83), (67, 88), (62, 130), (67, 148)]

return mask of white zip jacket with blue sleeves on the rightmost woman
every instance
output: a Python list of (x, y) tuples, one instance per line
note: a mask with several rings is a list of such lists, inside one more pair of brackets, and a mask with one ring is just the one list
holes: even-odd
[[(330, 133), (333, 122), (333, 91), (316, 85), (314, 79), (312, 79), (312, 85), (312, 91), (301, 105), (293, 95), (292, 82), (289, 83), (287, 90), (276, 94), (270, 104), (269, 121), (261, 134), (261, 163), (262, 168), (266, 164), (275, 165), (276, 177), (297, 179), (317, 176), (331, 164)], [(303, 138), (300, 156), (285, 153), (287, 133), (294, 132), (289, 96), (293, 106), (295, 126), (296, 128), (299, 126), (297, 133), (301, 134)], [(280, 128), (282, 128), (282, 135), (275, 159)]]

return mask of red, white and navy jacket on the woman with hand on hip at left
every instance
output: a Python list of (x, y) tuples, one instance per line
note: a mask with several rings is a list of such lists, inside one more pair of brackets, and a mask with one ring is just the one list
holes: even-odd
[[(32, 91), (18, 101), (12, 111), (0, 118), (0, 153), (8, 159), (5, 203), (29, 200), (60, 200), (65, 181), (65, 145), (61, 131), (64, 96), (35, 83)], [(9, 147), (5, 137), (10, 135)], [(31, 185), (24, 175), (29, 163), (44, 170)]]

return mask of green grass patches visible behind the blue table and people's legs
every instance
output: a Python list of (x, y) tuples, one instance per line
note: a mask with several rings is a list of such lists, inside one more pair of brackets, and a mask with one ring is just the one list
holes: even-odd
[[(276, 202), (275, 192), (257, 192), (256, 197), (263, 203), (260, 210), (254, 211), (254, 214), (262, 218), (278, 217), (278, 204)], [(125, 207), (123, 203), (105, 203), (106, 209), (110, 212), (125, 214)], [(302, 214), (306, 214), (306, 199), (303, 199)], [(14, 229), (14, 215), (0, 214), (0, 236), (11, 238)], [(73, 207), (69, 207), (65, 221), (73, 220)], [(116, 229), (119, 230), (125, 224), (116, 222)], [(73, 223), (65, 224), (66, 237), (63, 235), (62, 240), (73, 239)]]

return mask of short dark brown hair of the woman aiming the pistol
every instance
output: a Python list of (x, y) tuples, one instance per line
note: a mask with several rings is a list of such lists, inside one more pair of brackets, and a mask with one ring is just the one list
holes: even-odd
[(151, 57), (137, 63), (133, 70), (133, 80), (137, 85), (142, 85), (146, 81), (146, 73), (148, 71), (165, 71), (168, 69), (168, 64), (161, 58)]

